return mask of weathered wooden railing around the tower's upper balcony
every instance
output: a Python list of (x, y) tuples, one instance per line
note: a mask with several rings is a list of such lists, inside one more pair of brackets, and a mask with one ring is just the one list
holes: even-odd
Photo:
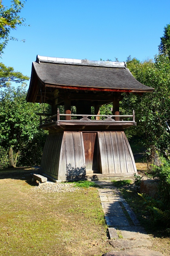
[[(133, 115), (75, 115), (75, 114), (60, 114), (59, 109), (57, 110), (57, 114), (54, 116), (49, 116), (49, 114), (42, 114), (37, 113), (37, 115), (40, 115), (40, 125), (48, 124), (48, 123), (54, 123), (54, 122), (121, 122), (121, 123), (128, 123), (128, 122), (135, 122), (135, 111), (133, 110)], [(42, 115), (49, 116), (47, 118), (42, 119)], [(71, 119), (71, 120), (60, 120), (60, 116), (81, 116), (80, 119)], [(95, 117), (94, 120), (88, 118), (88, 117)], [(104, 120), (98, 120), (96, 117), (104, 117)], [(116, 121), (113, 117), (119, 118), (120, 120)], [(133, 118), (133, 121), (123, 121), (122, 119), (125, 118)]]

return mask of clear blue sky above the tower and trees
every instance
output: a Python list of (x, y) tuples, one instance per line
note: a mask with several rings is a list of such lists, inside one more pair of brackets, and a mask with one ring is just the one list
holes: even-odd
[[(3, 0), (9, 6), (10, 1)], [(2, 62), (31, 76), (36, 55), (89, 60), (139, 60), (158, 53), (170, 23), (169, 0), (27, 0), (26, 24), (11, 31)], [(22, 39), (25, 39), (23, 43)]]

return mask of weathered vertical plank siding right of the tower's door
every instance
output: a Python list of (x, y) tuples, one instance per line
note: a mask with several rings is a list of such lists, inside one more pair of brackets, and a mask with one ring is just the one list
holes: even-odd
[(101, 173), (137, 172), (124, 132), (98, 132)]

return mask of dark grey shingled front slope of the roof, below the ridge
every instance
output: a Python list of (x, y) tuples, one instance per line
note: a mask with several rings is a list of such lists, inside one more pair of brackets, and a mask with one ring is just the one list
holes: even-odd
[(125, 66), (120, 68), (33, 62), (33, 68), (43, 84), (153, 91), (153, 88), (138, 82)]

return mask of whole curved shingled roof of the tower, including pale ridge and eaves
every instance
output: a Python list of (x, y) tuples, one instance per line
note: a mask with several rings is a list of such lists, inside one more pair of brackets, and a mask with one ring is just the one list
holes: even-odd
[(138, 82), (126, 68), (125, 62), (78, 60), (37, 55), (36, 62), (32, 64), (27, 101), (40, 101), (37, 98), (41, 93), (40, 83), (44, 85), (43, 88), (41, 87), (42, 92), (45, 91), (45, 87), (51, 87), (48, 92), (57, 88), (137, 93), (154, 90), (154, 88)]

